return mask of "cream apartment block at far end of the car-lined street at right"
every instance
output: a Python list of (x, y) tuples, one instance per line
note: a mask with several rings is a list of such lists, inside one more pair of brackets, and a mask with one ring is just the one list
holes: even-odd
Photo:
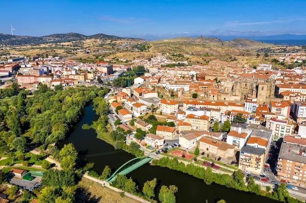
[(291, 135), (293, 129), (293, 120), (288, 118), (269, 118), (265, 127), (272, 130), (272, 140), (277, 141), (284, 138), (285, 135)]

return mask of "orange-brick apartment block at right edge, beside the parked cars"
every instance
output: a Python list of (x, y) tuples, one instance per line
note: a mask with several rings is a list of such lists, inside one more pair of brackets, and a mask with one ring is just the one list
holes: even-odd
[(285, 136), (277, 161), (277, 178), (306, 187), (306, 141)]

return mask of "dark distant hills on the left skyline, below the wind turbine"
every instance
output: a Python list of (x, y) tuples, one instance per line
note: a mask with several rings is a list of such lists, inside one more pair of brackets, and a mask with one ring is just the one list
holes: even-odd
[[(132, 39), (130, 37), (117, 37), (105, 34), (96, 34), (86, 36), (78, 33), (67, 33), (67, 34), (53, 34), (43, 37), (31, 37), (31, 36), (12, 36), (7, 34), (0, 34), (0, 43), (3, 45), (38, 45), (47, 43), (62, 43), (85, 39), (103, 39), (103, 40), (118, 40), (118, 39)], [(139, 39), (143, 40), (143, 39)]]

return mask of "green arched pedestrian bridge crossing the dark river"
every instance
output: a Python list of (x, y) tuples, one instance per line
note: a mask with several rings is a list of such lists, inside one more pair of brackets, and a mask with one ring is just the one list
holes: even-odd
[(130, 161), (126, 162), (124, 165), (120, 166), (110, 177), (106, 180), (106, 182), (111, 183), (116, 179), (117, 174), (127, 175), (128, 173), (132, 172), (133, 170), (139, 168), (150, 162), (153, 158), (148, 156), (140, 156), (131, 159)]

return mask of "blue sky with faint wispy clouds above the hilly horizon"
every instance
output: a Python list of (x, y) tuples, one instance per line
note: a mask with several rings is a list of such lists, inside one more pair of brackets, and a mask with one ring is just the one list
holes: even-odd
[(0, 33), (103, 33), (148, 40), (305, 35), (306, 0), (1, 0)]

